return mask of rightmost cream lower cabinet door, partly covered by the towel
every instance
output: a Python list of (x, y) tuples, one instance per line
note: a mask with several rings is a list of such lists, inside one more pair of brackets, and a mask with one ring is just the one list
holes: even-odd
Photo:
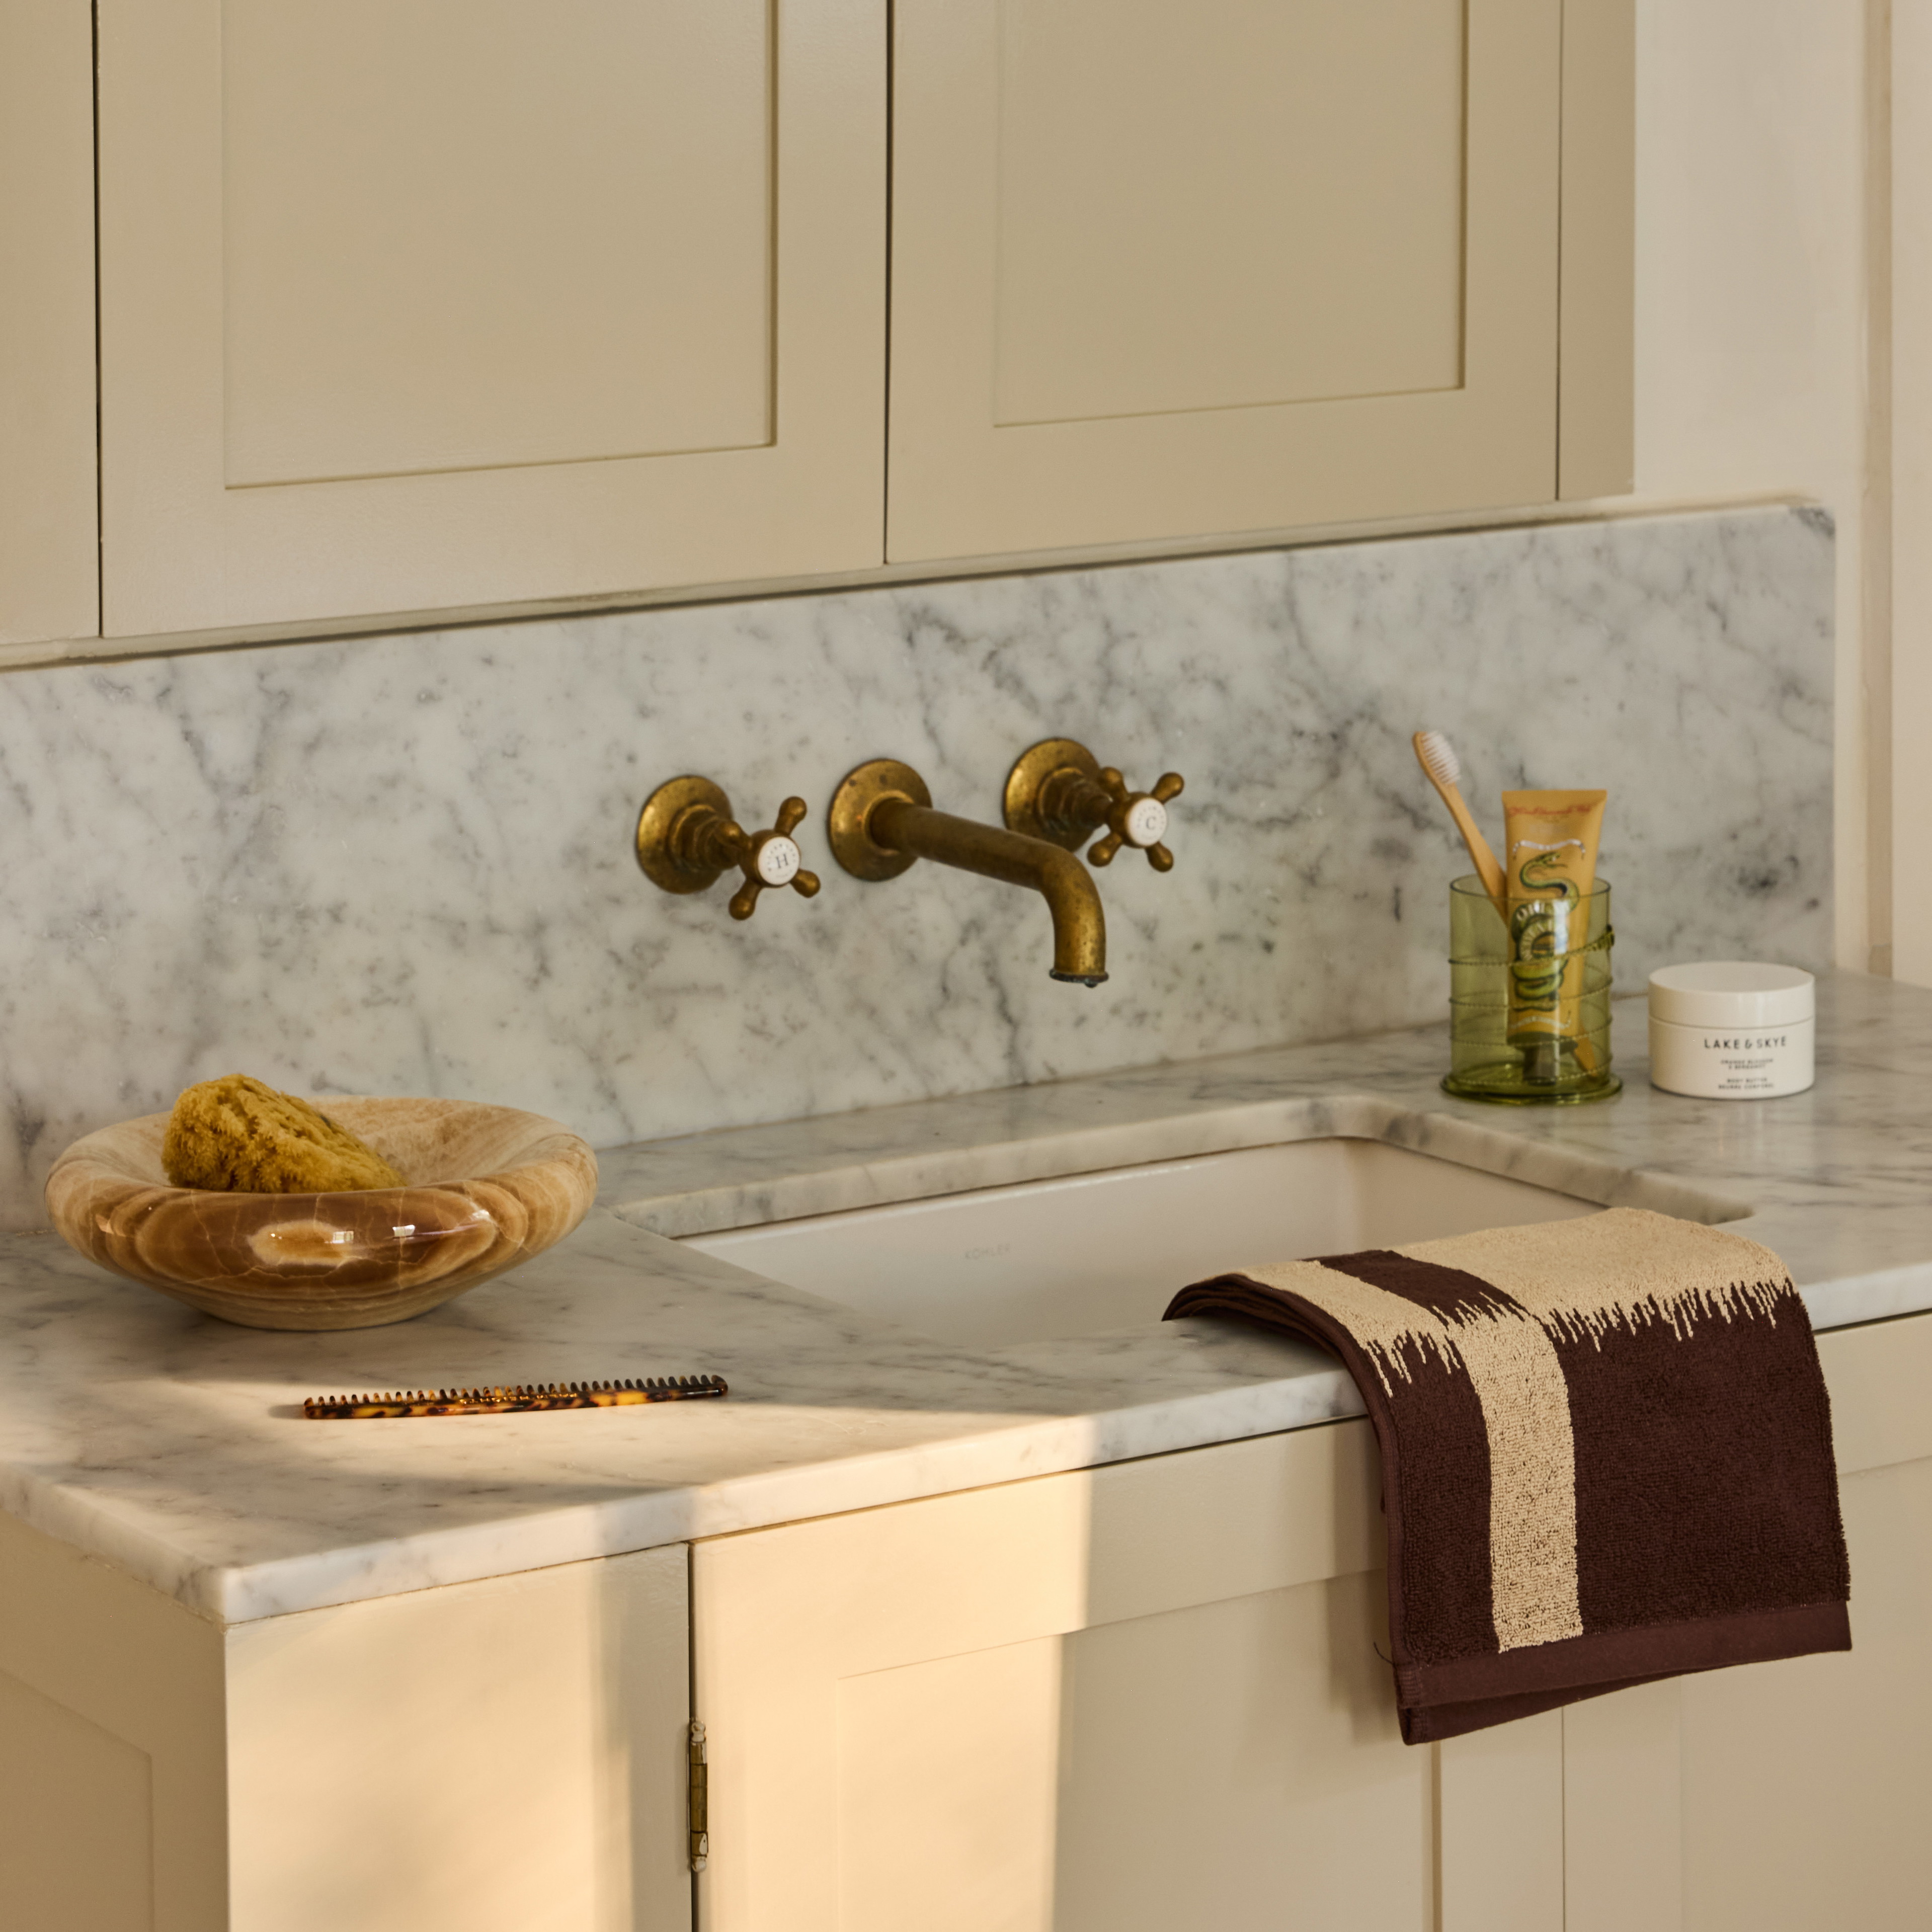
[(1932, 1316), (1818, 1337), (1853, 1648), (1563, 1712), (1569, 1932), (1905, 1932), (1932, 1849)]

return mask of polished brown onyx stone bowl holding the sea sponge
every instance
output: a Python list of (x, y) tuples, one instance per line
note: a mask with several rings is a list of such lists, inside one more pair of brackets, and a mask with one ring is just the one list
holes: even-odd
[(162, 1294), (269, 1329), (408, 1321), (568, 1235), (597, 1155), (541, 1113), (462, 1099), (336, 1099), (323, 1111), (404, 1175), (352, 1194), (170, 1186), (168, 1115), (77, 1140), (46, 1179), (62, 1238)]

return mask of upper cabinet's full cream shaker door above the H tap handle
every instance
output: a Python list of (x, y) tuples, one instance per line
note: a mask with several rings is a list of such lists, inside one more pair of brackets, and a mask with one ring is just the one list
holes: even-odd
[(883, 0), (100, 0), (110, 636), (877, 564)]

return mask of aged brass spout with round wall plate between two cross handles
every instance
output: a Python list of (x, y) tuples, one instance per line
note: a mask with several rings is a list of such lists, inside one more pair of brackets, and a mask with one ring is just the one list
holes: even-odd
[(1107, 978), (1107, 918), (1086, 866), (1065, 844), (933, 810), (925, 781), (896, 757), (848, 773), (825, 817), (833, 858), (858, 879), (896, 879), (922, 858), (1039, 893), (1053, 914), (1053, 978)]

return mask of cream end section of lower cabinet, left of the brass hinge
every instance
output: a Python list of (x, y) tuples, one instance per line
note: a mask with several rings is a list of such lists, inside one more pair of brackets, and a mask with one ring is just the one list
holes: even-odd
[(686, 1569), (222, 1629), (0, 1517), (0, 1926), (692, 1932)]

